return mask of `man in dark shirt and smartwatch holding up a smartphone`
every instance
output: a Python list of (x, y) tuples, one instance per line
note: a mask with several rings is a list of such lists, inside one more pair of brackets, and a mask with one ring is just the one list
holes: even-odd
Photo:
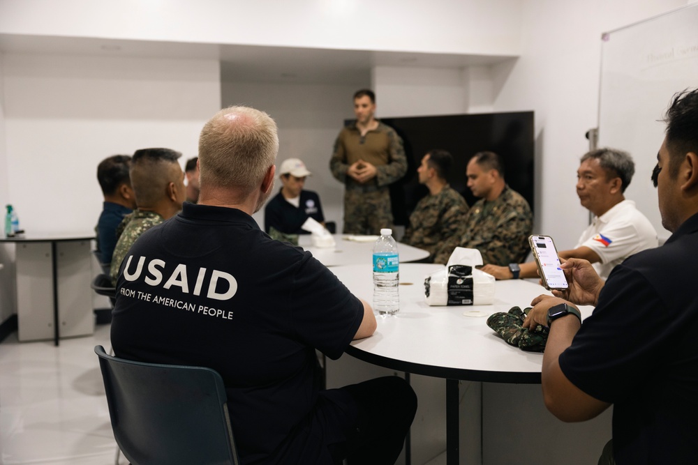
[[(605, 284), (588, 261), (567, 260), (570, 288), (535, 298), (524, 323), (550, 327), (542, 387), (556, 417), (587, 420), (613, 404), (600, 464), (695, 463), (698, 89), (678, 94), (666, 121), (652, 178), (671, 237), (625, 259)], [(573, 303), (596, 306), (584, 324)]]

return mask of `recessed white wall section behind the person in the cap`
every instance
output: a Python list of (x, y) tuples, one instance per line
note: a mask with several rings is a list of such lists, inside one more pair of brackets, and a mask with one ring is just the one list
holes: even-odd
[[(223, 106), (249, 105), (269, 113), (279, 127), (278, 167), (286, 158), (300, 158), (313, 173), (305, 188), (320, 195), (327, 221), (343, 225), (343, 184), (329, 172), (334, 139), (342, 122), (353, 118), (352, 95), (368, 82), (355, 85), (264, 84), (223, 82)], [(281, 188), (277, 181), (274, 194)], [(264, 228), (263, 210), (254, 215)]]

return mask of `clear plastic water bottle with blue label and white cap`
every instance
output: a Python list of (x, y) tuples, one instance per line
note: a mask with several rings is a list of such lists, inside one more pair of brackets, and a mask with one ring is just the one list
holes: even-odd
[(392, 229), (381, 229), (380, 238), (373, 245), (373, 309), (378, 314), (394, 315), (400, 310), (399, 265)]

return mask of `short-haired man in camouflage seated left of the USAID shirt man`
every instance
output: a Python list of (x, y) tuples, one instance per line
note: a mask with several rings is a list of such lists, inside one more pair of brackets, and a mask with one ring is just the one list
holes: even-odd
[[(117, 246), (112, 255), (110, 277), (116, 286), (121, 261), (135, 240), (156, 224), (172, 218), (186, 198), (184, 171), (177, 158), (181, 153), (169, 148), (143, 148), (131, 159), (131, 185), (136, 208), (126, 215), (117, 229)], [(120, 234), (119, 234), (120, 232)]]

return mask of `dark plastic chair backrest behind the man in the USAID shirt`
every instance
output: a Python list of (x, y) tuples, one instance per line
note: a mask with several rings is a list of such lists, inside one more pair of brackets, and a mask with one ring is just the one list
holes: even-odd
[(133, 465), (239, 465), (213, 369), (99, 356), (114, 439)]

